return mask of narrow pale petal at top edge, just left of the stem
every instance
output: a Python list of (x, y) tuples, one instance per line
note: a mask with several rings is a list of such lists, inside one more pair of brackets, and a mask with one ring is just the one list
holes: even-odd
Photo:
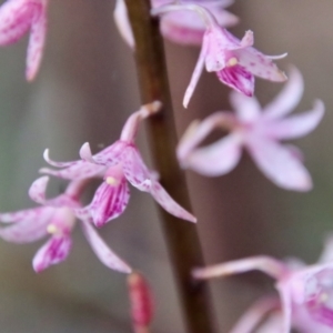
[(129, 21), (128, 10), (123, 0), (117, 0), (113, 12), (115, 26), (128, 46), (134, 49), (135, 42), (132, 28)]

